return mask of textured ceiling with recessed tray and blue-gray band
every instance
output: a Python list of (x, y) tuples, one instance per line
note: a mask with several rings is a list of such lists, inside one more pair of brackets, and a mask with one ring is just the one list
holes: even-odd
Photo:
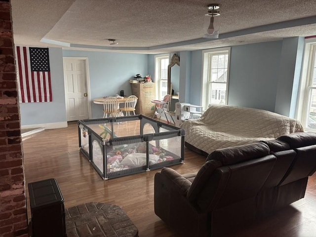
[[(220, 4), (220, 38), (203, 39)], [(17, 45), (160, 53), (316, 35), (315, 0), (11, 0)], [(110, 45), (116, 39), (118, 45)]]

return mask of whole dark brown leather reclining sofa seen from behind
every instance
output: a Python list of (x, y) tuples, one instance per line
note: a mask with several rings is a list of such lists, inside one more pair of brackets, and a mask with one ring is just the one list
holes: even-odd
[(303, 198), (316, 171), (316, 133), (218, 149), (197, 173), (162, 168), (155, 213), (179, 236), (221, 236)]

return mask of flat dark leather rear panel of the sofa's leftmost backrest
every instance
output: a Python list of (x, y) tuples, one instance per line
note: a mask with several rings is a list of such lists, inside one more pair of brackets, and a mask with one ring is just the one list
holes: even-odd
[(267, 155), (217, 168), (214, 172), (217, 175), (212, 176), (208, 184), (218, 184), (218, 190), (209, 192), (205, 185), (199, 194), (197, 205), (201, 209), (222, 208), (242, 200), (256, 198), (275, 163), (276, 157)]

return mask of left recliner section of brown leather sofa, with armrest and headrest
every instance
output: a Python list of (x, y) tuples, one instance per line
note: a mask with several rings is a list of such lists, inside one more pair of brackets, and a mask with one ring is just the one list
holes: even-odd
[(182, 237), (220, 236), (249, 225), (276, 162), (269, 153), (258, 142), (214, 151), (197, 174), (163, 168), (155, 175), (155, 213)]

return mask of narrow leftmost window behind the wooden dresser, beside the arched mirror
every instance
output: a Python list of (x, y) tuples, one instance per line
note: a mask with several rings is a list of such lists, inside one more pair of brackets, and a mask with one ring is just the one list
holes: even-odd
[(168, 90), (169, 54), (155, 56), (155, 78), (158, 99), (163, 99)]

